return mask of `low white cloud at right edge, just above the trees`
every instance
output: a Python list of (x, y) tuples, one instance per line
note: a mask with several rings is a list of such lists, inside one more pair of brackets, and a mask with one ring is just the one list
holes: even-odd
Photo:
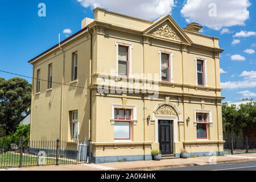
[[(236, 75), (236, 74), (235, 74)], [(244, 77), (242, 81), (228, 81), (221, 83), (223, 89), (241, 89), (256, 87), (256, 71), (243, 71), (240, 77)]]

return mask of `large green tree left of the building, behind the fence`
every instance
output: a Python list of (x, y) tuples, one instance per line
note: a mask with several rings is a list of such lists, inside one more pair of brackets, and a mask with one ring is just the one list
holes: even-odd
[(0, 78), (0, 127), (6, 135), (22, 121), (20, 113), (30, 108), (31, 89), (31, 84), (23, 78)]

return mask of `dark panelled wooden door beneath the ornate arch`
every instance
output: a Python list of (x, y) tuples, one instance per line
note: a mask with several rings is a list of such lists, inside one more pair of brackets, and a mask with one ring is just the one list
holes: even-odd
[(159, 144), (163, 155), (173, 154), (172, 121), (159, 121)]

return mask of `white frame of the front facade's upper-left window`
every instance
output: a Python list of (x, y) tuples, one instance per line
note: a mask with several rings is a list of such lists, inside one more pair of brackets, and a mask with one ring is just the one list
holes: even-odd
[[(133, 77), (133, 73), (132, 73), (132, 50), (133, 50), (133, 44), (127, 44), (127, 43), (123, 43), (123, 42), (115, 42), (115, 47), (117, 49), (117, 52), (116, 52), (116, 69), (115, 69), (115, 76), (121, 76), (122, 75), (119, 75), (118, 74), (118, 48), (119, 46), (125, 46), (125, 47), (128, 47), (128, 65), (127, 65), (127, 68), (128, 68), (128, 72), (127, 72), (127, 75), (128, 77)], [(125, 76), (124, 76), (125, 77)]]

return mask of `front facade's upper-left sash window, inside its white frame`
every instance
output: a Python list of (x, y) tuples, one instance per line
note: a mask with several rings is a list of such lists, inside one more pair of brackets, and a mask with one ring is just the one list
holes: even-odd
[(118, 45), (118, 75), (128, 76), (128, 47)]

